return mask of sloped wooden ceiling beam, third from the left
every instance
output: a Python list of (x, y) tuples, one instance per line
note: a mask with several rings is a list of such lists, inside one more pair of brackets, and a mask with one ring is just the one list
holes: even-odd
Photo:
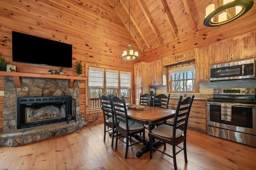
[(153, 18), (151, 17), (146, 4), (144, 3), (143, 0), (137, 0), (137, 1), (138, 1), (138, 4), (139, 4), (140, 8), (142, 9), (143, 14), (145, 15), (145, 17), (148, 21), (148, 24), (150, 25), (151, 29), (154, 32), (154, 34), (156, 36), (156, 39), (158, 40), (158, 42), (160, 44), (164, 44), (163, 38), (162, 38), (159, 30), (157, 29), (156, 24), (153, 21)]

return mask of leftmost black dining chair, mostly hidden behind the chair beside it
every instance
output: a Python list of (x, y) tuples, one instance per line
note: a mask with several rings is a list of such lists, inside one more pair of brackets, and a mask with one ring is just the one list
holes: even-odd
[[(113, 109), (111, 107), (110, 97), (106, 95), (100, 96), (99, 94), (99, 98), (104, 119), (104, 141), (106, 139), (106, 132), (108, 132), (109, 135), (112, 136), (111, 146), (113, 146), (116, 125), (114, 123), (114, 114)], [(106, 127), (108, 127), (108, 129)]]

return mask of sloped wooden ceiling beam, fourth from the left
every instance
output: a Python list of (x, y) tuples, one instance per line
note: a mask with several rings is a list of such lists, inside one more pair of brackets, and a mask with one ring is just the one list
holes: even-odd
[(177, 38), (177, 29), (174, 26), (174, 22), (172, 20), (172, 16), (170, 13), (170, 9), (168, 7), (168, 5), (166, 4), (166, 0), (158, 0), (160, 8), (162, 8), (162, 12), (164, 13), (164, 15), (166, 16), (166, 20), (170, 25), (170, 28), (172, 30), (172, 35), (174, 38)]

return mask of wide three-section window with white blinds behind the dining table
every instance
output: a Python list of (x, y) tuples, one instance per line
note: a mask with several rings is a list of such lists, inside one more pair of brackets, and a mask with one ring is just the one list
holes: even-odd
[(126, 103), (130, 103), (131, 73), (127, 71), (89, 67), (88, 87), (91, 109), (100, 108), (99, 94), (113, 94), (118, 97), (124, 95)]

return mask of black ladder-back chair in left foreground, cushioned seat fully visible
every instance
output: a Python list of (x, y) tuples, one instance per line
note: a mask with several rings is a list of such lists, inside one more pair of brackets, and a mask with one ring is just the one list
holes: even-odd
[[(110, 101), (114, 111), (116, 134), (120, 134), (116, 135), (115, 149), (117, 149), (118, 140), (124, 142), (126, 144), (124, 158), (127, 158), (129, 146), (140, 142), (143, 142), (143, 145), (145, 144), (145, 127), (141, 123), (128, 119), (124, 96), (122, 96), (122, 99), (117, 96), (110, 96)], [(139, 135), (140, 133), (143, 133), (142, 137)], [(126, 138), (126, 140), (123, 139), (123, 137)], [(132, 142), (132, 140), (129, 140), (130, 137), (136, 138), (137, 141)]]

